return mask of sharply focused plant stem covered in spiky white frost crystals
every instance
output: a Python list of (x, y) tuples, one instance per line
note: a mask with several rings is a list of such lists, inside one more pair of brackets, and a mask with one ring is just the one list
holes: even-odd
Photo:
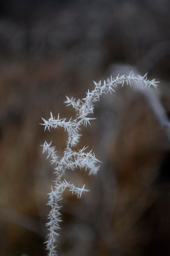
[(43, 126), (45, 130), (51, 130), (52, 128), (63, 127), (64, 131), (68, 133), (68, 140), (66, 142), (66, 148), (63, 152), (61, 159), (57, 157), (57, 151), (55, 146), (51, 146), (51, 143), (44, 142), (43, 153), (47, 154), (47, 158), (51, 157), (51, 163), (55, 164), (55, 184), (51, 188), (51, 193), (49, 193), (48, 205), (51, 207), (47, 223), (49, 234), (46, 241), (46, 249), (48, 249), (49, 256), (56, 256), (56, 241), (59, 236), (58, 230), (60, 229), (61, 213), (59, 201), (62, 199), (62, 193), (66, 188), (69, 189), (73, 194), (77, 194), (78, 198), (81, 198), (82, 193), (89, 191), (85, 189), (85, 185), (82, 188), (76, 187), (74, 184), (64, 180), (64, 173), (66, 170), (75, 170), (77, 168), (84, 168), (89, 171), (89, 175), (96, 174), (99, 170), (99, 160), (96, 159), (95, 154), (92, 152), (86, 152), (87, 147), (79, 149), (78, 151), (73, 150), (74, 146), (77, 146), (81, 134), (79, 134), (80, 126), (87, 126), (90, 121), (95, 118), (88, 117), (93, 114), (94, 103), (99, 101), (102, 94), (107, 94), (108, 92), (115, 92), (115, 88), (118, 85), (123, 85), (126, 83), (132, 86), (134, 82), (141, 83), (142, 88), (150, 88), (153, 86), (157, 88), (157, 83), (155, 79), (148, 80), (147, 74), (144, 76), (135, 75), (131, 72), (128, 76), (118, 75), (116, 78), (112, 76), (102, 83), (94, 82), (95, 88), (90, 92), (86, 92), (86, 97), (84, 99), (74, 99), (66, 96), (66, 101), (64, 103), (67, 106), (72, 106), (75, 109), (75, 119), (66, 120), (66, 118), (60, 118), (59, 114), (57, 118), (51, 117), (49, 120), (42, 118)]

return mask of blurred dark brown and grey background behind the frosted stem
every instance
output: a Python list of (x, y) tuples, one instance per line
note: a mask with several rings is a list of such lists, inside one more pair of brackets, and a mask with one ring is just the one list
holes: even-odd
[(103, 164), (66, 174), (91, 192), (64, 193), (60, 256), (170, 255), (170, 1), (0, 1), (0, 255), (46, 255), (54, 175), (40, 145), (62, 156), (67, 137), (41, 117), (73, 117), (65, 95), (131, 70), (159, 89), (124, 86), (96, 104), (78, 146)]

